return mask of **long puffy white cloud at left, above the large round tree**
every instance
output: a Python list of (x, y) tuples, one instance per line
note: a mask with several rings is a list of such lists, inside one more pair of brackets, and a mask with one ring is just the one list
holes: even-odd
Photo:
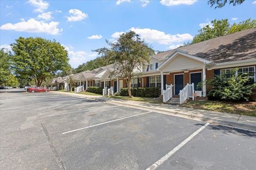
[(25, 21), (24, 19), (18, 23), (6, 23), (3, 24), (1, 30), (15, 30), (20, 32), (43, 32), (50, 35), (58, 35), (62, 32), (62, 29), (58, 28), (59, 22), (49, 22), (37, 21), (35, 19), (29, 19)]

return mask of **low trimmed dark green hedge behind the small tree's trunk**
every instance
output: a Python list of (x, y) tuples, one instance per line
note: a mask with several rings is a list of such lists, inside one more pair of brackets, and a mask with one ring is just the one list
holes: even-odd
[[(147, 88), (131, 88), (132, 96), (135, 97), (159, 97), (161, 95), (161, 89), (156, 87)], [(120, 96), (129, 96), (128, 88), (122, 88)]]

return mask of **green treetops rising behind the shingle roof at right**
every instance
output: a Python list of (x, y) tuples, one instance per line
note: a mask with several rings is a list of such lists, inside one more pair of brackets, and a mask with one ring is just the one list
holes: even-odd
[(193, 38), (191, 44), (250, 28), (256, 28), (255, 20), (248, 19), (239, 23), (230, 24), (227, 19), (215, 19), (211, 21), (211, 25), (206, 25), (198, 30), (199, 33)]

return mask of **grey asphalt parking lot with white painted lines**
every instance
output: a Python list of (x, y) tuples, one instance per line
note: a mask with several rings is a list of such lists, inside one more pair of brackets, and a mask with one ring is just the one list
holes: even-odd
[(255, 169), (256, 133), (51, 93), (0, 91), (1, 169)]

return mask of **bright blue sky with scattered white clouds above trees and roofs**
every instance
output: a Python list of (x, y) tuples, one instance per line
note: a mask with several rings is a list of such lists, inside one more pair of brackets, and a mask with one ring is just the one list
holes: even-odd
[(207, 1), (2, 1), (0, 45), (9, 48), (21, 37), (55, 39), (77, 67), (97, 57), (122, 32), (133, 30), (154, 50), (168, 50), (190, 41), (213, 19), (239, 22), (256, 18), (256, 1), (214, 9)]

